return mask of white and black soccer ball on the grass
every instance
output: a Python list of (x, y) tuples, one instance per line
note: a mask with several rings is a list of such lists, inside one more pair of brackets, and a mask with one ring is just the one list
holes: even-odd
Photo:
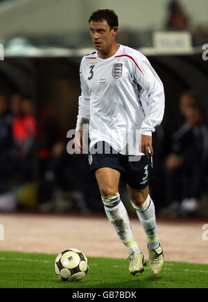
[(62, 281), (80, 281), (87, 275), (88, 268), (87, 257), (78, 249), (66, 249), (55, 258), (55, 274)]

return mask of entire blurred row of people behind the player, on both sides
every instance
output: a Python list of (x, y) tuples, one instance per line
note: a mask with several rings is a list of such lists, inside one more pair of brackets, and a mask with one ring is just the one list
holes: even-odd
[[(208, 207), (208, 123), (196, 91), (183, 91), (180, 128), (167, 141), (163, 125), (153, 134), (155, 172), (151, 195), (160, 215), (196, 215)], [(67, 154), (50, 107), (35, 113), (33, 99), (0, 94), (0, 211), (103, 211), (87, 154)], [(121, 196), (128, 193), (121, 181)]]

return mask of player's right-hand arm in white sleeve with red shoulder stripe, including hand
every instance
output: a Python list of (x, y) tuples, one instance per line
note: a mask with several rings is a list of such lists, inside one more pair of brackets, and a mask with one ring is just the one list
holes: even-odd
[(148, 60), (137, 63), (133, 66), (135, 79), (148, 94), (148, 109), (141, 124), (141, 152), (150, 157), (153, 155), (152, 133), (164, 116), (164, 87)]

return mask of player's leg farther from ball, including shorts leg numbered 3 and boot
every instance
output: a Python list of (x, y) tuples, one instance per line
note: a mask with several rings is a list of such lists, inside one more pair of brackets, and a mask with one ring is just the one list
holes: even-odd
[(136, 209), (141, 225), (146, 233), (150, 271), (153, 274), (158, 274), (162, 269), (164, 258), (157, 235), (155, 206), (148, 190), (150, 175), (153, 172), (153, 161), (152, 158), (146, 156), (142, 156), (137, 161), (130, 161), (129, 157), (124, 156), (123, 163), (132, 205)]

